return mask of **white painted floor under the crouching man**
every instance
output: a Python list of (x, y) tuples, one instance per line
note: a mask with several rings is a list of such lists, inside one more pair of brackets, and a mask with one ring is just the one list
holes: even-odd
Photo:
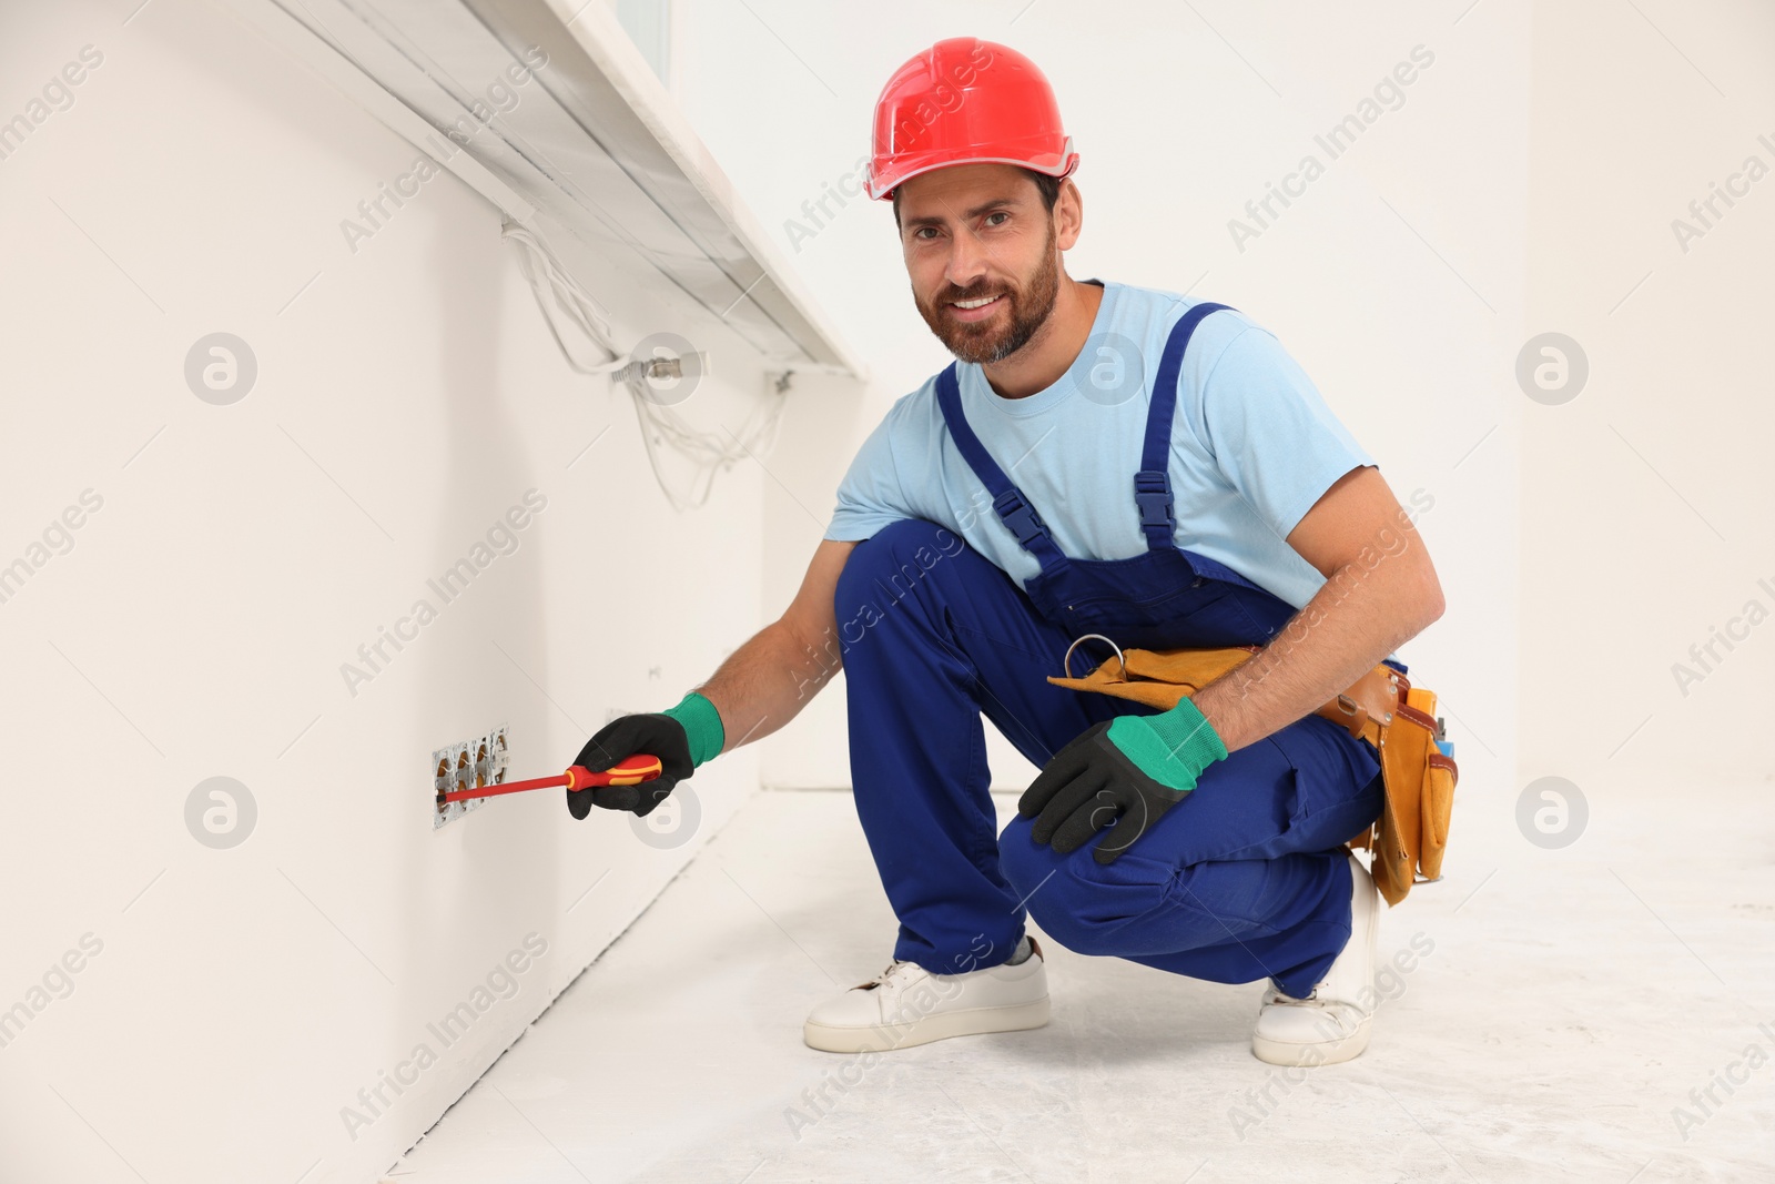
[(891, 1053), (824, 1115), (804, 1092), (859, 1069), (802, 1017), (893, 914), (848, 793), (760, 793), (387, 1179), (1770, 1180), (1771, 793), (1592, 795), (1564, 850), (1468, 795), (1445, 880), (1383, 918), (1383, 957), (1432, 950), (1353, 1063), (1255, 1060), (1262, 983), (1049, 941), (1047, 1028)]

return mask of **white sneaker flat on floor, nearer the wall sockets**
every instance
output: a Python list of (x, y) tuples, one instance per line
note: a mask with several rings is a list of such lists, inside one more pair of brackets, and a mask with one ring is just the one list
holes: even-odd
[(891, 962), (873, 982), (813, 1008), (802, 1040), (824, 1053), (889, 1051), (1045, 1022), (1047, 969), (1031, 935), (1030, 957), (1017, 966), (932, 975), (916, 962)]

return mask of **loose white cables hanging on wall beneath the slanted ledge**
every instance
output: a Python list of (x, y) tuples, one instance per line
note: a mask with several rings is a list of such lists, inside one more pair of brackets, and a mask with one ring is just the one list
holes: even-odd
[[(683, 378), (683, 367), (699, 371), (706, 362), (705, 355), (682, 355), (676, 359), (625, 357), (612, 341), (611, 318), (579, 282), (566, 273), (554, 252), (529, 227), (506, 222), (502, 238), (520, 247), (518, 266), (536, 293), (536, 304), (548, 321), (548, 332), (561, 346), (561, 357), (580, 375), (611, 375), (628, 387), (635, 405), (635, 417), (641, 421), (641, 440), (648, 451), (648, 463), (666, 493), (673, 509), (694, 509), (708, 502), (715, 476), (731, 469), (747, 456), (756, 458), (770, 451), (776, 444), (777, 428), (783, 421), (783, 396), (769, 394), (767, 403), (747, 415), (740, 431), (721, 433), (699, 431), (667, 401), (669, 392), (655, 389), (653, 378)], [(561, 335), (557, 318), (570, 321), (582, 335), (607, 357), (588, 364), (573, 355), (566, 337)], [(685, 490), (673, 488), (664, 469), (660, 469), (659, 449), (671, 447), (694, 465), (694, 472)]]

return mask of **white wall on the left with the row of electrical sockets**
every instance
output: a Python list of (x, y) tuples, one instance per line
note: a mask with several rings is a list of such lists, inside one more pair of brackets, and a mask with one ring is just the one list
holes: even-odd
[[(669, 849), (556, 792), (433, 834), (430, 753), (506, 722), (513, 776), (541, 776), (612, 712), (674, 703), (760, 620), (765, 478), (669, 511), (495, 209), (442, 176), (350, 252), (341, 218), (417, 153), (225, 11), (131, 9), (0, 16), (0, 119), (103, 55), (0, 160), (0, 563), (103, 499), (0, 604), (0, 1008), (25, 1006), (0, 1030), (0, 1177), (355, 1184), (756, 788), (751, 754), (699, 776)], [(758, 362), (712, 318), (566, 254), (623, 341), (714, 353), (687, 415), (756, 407)], [(257, 359), (229, 407), (183, 376), (217, 330)], [(515, 554), (350, 694), (341, 664), (531, 488)], [(227, 850), (185, 822), (213, 776), (257, 806)], [(428, 1022), (531, 934), (547, 955), (446, 1051)], [(419, 1044), (438, 1063), (348, 1133)]]

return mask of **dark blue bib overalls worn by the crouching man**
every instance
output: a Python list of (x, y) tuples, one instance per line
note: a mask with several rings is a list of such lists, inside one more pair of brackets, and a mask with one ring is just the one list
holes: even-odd
[(1189, 335), (1172, 330), (1147, 415), (1134, 506), (1147, 552), (1070, 559), (962, 414), (951, 364), (943, 417), (992, 508), (1040, 575), (1026, 589), (958, 534), (895, 522), (852, 550), (834, 607), (857, 817), (900, 918), (895, 957), (958, 973), (1010, 957), (1024, 916), (1079, 953), (1212, 982), (1274, 978), (1305, 996), (1349, 939), (1342, 843), (1381, 813), (1379, 760), (1319, 715), (1234, 751), (1115, 863), (998, 833), (982, 715), (1035, 765), (1092, 724), (1152, 708), (1051, 685), (1083, 634), (1122, 646), (1264, 644), (1294, 609), (1173, 541), (1168, 462)]

